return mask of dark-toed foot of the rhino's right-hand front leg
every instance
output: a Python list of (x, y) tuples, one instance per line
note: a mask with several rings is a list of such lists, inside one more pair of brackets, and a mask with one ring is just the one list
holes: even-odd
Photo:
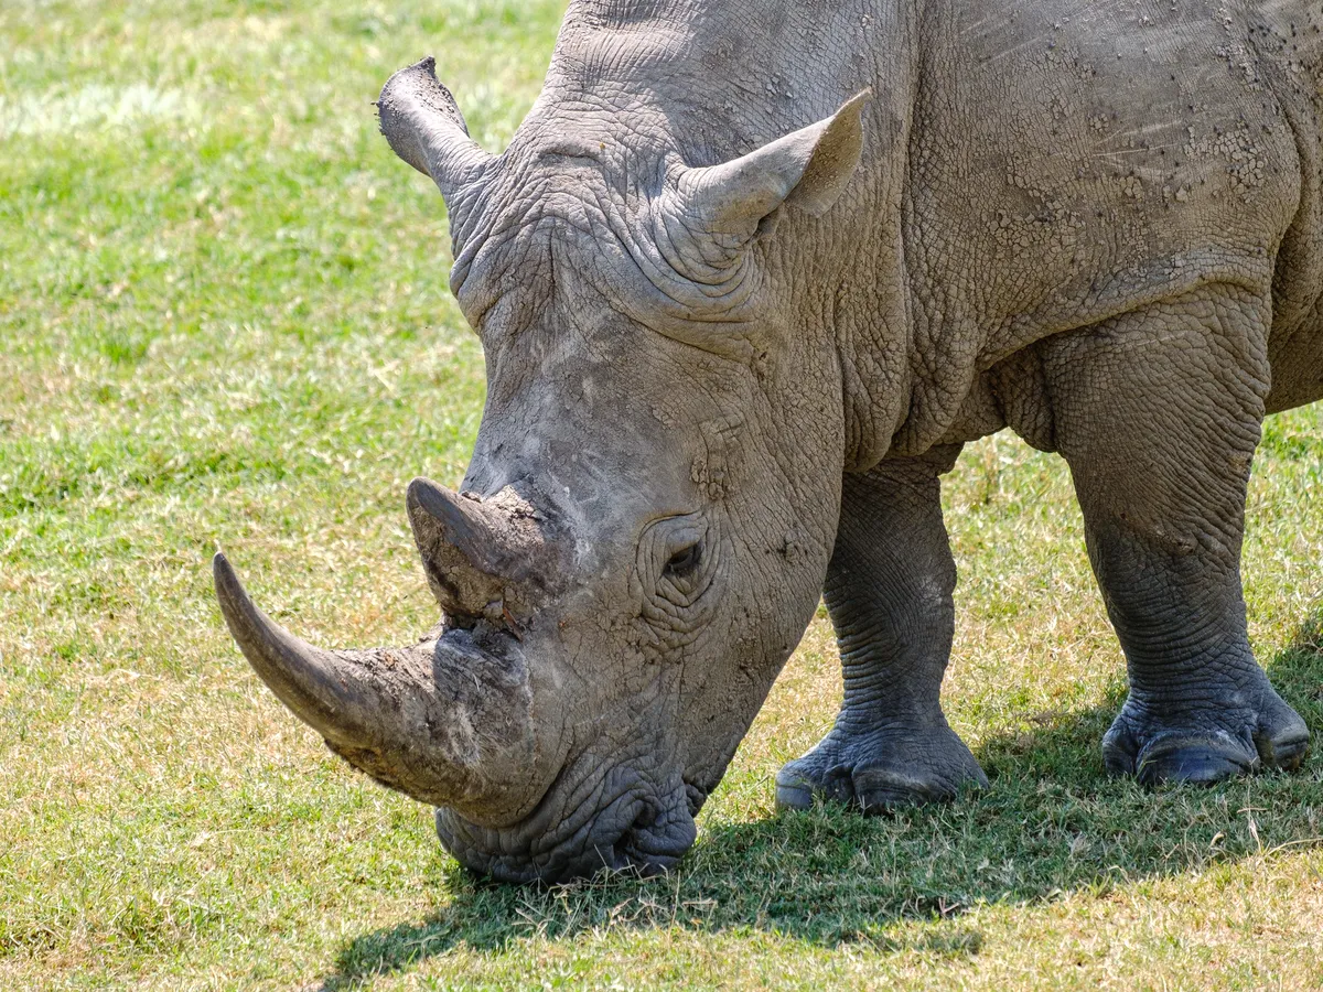
[(1261, 705), (1159, 714), (1134, 697), (1102, 741), (1113, 775), (1144, 786), (1163, 782), (1213, 784), (1263, 768), (1295, 771), (1310, 749), (1304, 721), (1263, 679)]

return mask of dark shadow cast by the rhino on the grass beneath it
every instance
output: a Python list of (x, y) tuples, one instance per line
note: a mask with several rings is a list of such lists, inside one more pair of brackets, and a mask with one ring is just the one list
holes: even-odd
[[(1323, 735), (1323, 610), (1267, 671)], [(1098, 743), (1123, 696), (1118, 682), (1102, 706), (1040, 714), (987, 739), (978, 757), (992, 787), (947, 807), (885, 817), (818, 808), (746, 823), (709, 815), (680, 870), (648, 881), (520, 889), (447, 868), (437, 880), (447, 905), (352, 940), (324, 988), (356, 988), (459, 946), (499, 952), (601, 929), (759, 930), (823, 946), (966, 956), (982, 944), (960, 919), (976, 905), (1049, 902), (1319, 840), (1316, 755), (1298, 775), (1216, 788), (1150, 792), (1109, 779)], [(438, 854), (442, 864), (452, 865)], [(919, 926), (897, 926), (906, 921)]]

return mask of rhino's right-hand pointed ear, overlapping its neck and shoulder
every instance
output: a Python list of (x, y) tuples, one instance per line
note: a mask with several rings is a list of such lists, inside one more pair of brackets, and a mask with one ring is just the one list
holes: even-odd
[(679, 181), (684, 225), (744, 242), (778, 206), (822, 217), (859, 165), (861, 114), (872, 98), (873, 91), (864, 90), (830, 118), (740, 159), (685, 169)]

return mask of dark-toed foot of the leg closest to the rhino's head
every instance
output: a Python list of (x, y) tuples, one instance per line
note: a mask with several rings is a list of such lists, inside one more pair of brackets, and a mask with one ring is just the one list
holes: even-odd
[(818, 798), (882, 813), (949, 802), (968, 783), (987, 786), (987, 776), (945, 721), (853, 734), (837, 726), (777, 772), (777, 808), (807, 809)]

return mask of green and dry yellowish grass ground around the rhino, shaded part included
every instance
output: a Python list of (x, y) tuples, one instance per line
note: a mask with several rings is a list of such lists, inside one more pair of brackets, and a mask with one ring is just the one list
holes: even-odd
[[(1323, 987), (1323, 759), (1103, 776), (1119, 651), (1061, 463), (1008, 436), (947, 489), (976, 800), (773, 815), (839, 698), (819, 619), (679, 873), (483, 888), (257, 682), (216, 546), (310, 638), (422, 631), (404, 485), (478, 425), (439, 198), (369, 101), (435, 50), (499, 148), (560, 13), (0, 5), (0, 987)], [(1323, 734), (1320, 407), (1270, 422), (1250, 521), (1254, 643)]]

